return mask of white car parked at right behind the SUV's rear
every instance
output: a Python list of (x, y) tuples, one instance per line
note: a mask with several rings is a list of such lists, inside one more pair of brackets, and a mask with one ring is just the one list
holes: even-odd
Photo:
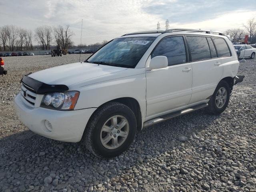
[(256, 48), (250, 45), (234, 45), (238, 58), (255, 58)]

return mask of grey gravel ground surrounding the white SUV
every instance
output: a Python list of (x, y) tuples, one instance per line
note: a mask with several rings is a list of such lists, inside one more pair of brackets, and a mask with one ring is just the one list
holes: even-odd
[[(84, 60), (88, 55), (82, 55)], [(79, 55), (4, 58), (0, 76), (0, 191), (256, 192), (256, 59), (219, 116), (198, 110), (139, 132), (122, 155), (102, 160), (80, 144), (30, 132), (13, 99), (24, 74), (76, 62)]]

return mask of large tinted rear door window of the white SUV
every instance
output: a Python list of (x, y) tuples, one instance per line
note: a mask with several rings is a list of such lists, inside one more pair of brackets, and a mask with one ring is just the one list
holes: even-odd
[(210, 59), (211, 53), (206, 37), (187, 36), (192, 61)]

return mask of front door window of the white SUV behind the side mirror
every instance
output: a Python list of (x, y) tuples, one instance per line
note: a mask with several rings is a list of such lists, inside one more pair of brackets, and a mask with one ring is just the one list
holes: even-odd
[(183, 37), (169, 37), (162, 40), (154, 50), (151, 58), (155, 56), (166, 56), (168, 66), (186, 62), (186, 49)]

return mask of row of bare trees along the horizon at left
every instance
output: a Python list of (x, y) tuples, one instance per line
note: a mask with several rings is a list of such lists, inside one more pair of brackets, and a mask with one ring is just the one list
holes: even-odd
[(14, 25), (0, 27), (0, 51), (33, 50), (32, 40), (36, 40), (42, 50), (50, 49), (54, 43), (62, 49), (68, 49), (73, 42), (74, 32), (70, 26), (39, 26), (34, 32)]

